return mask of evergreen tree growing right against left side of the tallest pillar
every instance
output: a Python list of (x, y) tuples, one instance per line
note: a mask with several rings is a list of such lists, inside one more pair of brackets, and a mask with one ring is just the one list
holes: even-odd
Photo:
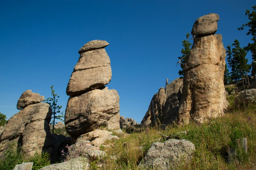
[(185, 60), (186, 60), (186, 57), (189, 54), (189, 51), (190, 51), (191, 46), (192, 46), (192, 44), (189, 42), (189, 35), (190, 34), (187, 33), (186, 39), (182, 41), (182, 45), (183, 45), (184, 48), (181, 49), (182, 56), (178, 57), (180, 59), (179, 60), (180, 67), (182, 69), (182, 70), (179, 70), (179, 75), (180, 76), (184, 76), (183, 69), (184, 69)]

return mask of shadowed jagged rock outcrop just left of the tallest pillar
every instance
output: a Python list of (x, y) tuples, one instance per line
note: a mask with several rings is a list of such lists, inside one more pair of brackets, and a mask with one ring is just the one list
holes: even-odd
[[(182, 96), (183, 78), (177, 78), (167, 85), (166, 96), (165, 89), (160, 88), (159, 92), (156, 93), (148, 107), (141, 123), (143, 125), (149, 125), (158, 121), (159, 119), (162, 124), (169, 124), (176, 120), (178, 116), (179, 102)], [(153, 106), (154, 103), (154, 106)], [(154, 117), (153, 107), (156, 119)]]

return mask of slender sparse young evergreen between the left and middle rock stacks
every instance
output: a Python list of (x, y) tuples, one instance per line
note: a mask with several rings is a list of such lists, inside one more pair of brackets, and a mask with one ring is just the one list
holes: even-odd
[[(52, 91), (52, 98), (48, 97), (46, 100), (45, 103), (49, 104), (51, 109), (52, 109), (52, 113), (53, 113), (53, 116), (52, 116), (52, 122), (51, 124), (53, 125), (52, 127), (52, 133), (54, 133), (54, 125), (55, 125), (55, 119), (59, 119), (59, 120), (62, 120), (62, 118), (64, 117), (63, 116), (63, 111), (60, 112), (60, 109), (62, 106), (59, 106), (57, 105), (57, 102), (58, 102), (58, 98), (60, 96), (57, 96), (57, 94), (55, 94), (55, 90), (53, 90), (53, 85), (50, 87), (51, 88), (51, 91)], [(61, 115), (56, 115), (57, 113), (60, 113)]]

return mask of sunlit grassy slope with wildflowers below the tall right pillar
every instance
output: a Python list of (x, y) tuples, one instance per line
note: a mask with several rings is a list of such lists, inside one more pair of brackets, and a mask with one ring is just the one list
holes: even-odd
[[(100, 169), (143, 169), (138, 164), (145, 156), (156, 139), (161, 138), (158, 132), (165, 135), (178, 136), (190, 140), (196, 147), (190, 164), (180, 164), (176, 169), (253, 169), (256, 168), (256, 105), (248, 104), (237, 108), (233, 103), (234, 96), (229, 96), (229, 108), (223, 117), (197, 124), (170, 125), (165, 129), (161, 125), (155, 127), (128, 129), (129, 136), (124, 135), (119, 140), (106, 141), (112, 148), (101, 148), (108, 154), (99, 162)], [(180, 133), (186, 131), (187, 134)], [(125, 137), (126, 136), (126, 137)], [(247, 138), (248, 154), (241, 149), (240, 138)], [(124, 145), (124, 142), (126, 144)], [(161, 139), (160, 142), (164, 142)], [(141, 150), (139, 146), (143, 146)], [(228, 163), (228, 150), (236, 150), (236, 157)], [(113, 156), (116, 159), (113, 159)]]

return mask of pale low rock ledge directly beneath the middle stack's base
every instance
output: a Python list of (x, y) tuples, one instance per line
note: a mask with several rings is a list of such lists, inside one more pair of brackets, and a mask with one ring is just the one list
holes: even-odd
[(112, 135), (113, 132), (107, 130), (99, 130), (96, 129), (92, 132), (83, 134), (77, 138), (77, 141), (89, 141), (89, 143), (93, 146), (102, 145), (106, 140), (119, 139), (117, 136)]

